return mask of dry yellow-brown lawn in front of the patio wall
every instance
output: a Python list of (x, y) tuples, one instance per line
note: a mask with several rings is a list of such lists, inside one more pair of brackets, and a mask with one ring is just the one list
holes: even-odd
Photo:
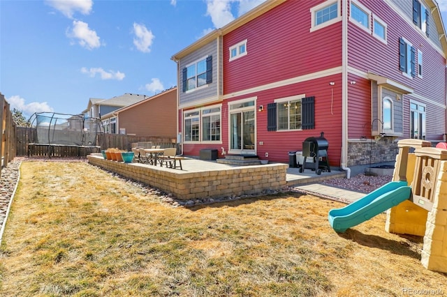
[(402, 296), (443, 290), (422, 239), (379, 215), (346, 234), (336, 201), (293, 194), (173, 208), (85, 163), (24, 162), (1, 296)]

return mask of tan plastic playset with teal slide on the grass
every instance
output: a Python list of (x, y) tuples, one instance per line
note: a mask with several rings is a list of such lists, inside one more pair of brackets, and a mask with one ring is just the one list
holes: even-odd
[[(447, 144), (402, 139), (393, 181), (343, 208), (329, 211), (340, 233), (386, 211), (386, 231), (423, 236), (421, 263), (447, 272)], [(410, 150), (414, 151), (410, 153)]]

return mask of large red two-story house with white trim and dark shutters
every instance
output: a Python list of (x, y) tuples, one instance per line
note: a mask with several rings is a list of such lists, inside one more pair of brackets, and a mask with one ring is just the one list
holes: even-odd
[(446, 56), (434, 0), (265, 1), (173, 56), (182, 151), (288, 162), (324, 132), (332, 166), (394, 162), (446, 133)]

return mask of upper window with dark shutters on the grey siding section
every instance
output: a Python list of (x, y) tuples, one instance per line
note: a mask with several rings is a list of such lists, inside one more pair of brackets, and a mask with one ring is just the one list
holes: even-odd
[(195, 61), (182, 71), (183, 91), (191, 91), (212, 82), (212, 56)]

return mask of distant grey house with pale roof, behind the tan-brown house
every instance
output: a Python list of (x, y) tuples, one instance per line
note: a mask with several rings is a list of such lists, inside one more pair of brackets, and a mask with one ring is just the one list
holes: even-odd
[(117, 117), (113, 112), (146, 98), (148, 96), (132, 93), (124, 93), (121, 96), (115, 96), (110, 99), (90, 98), (86, 113), (89, 117), (101, 119), (104, 132), (118, 134)]

